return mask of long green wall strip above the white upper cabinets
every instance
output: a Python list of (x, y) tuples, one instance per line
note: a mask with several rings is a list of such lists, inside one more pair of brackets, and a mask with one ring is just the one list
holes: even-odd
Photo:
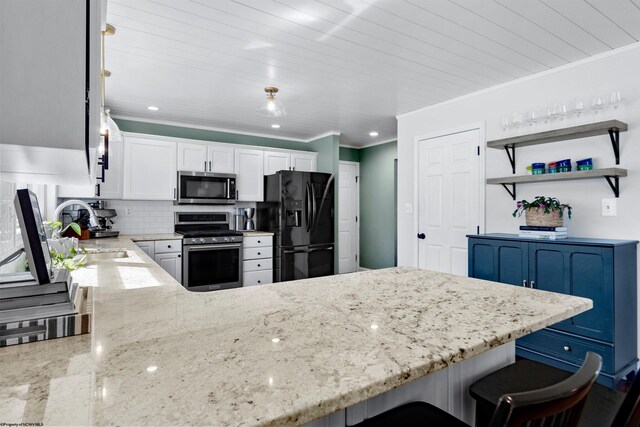
[(261, 147), (282, 148), (284, 150), (315, 151), (311, 149), (309, 144), (302, 141), (289, 141), (286, 139), (194, 129), (190, 127), (162, 125), (158, 123), (138, 122), (134, 120), (114, 119), (114, 121), (123, 132), (146, 133), (150, 135), (196, 139), (201, 141), (227, 142), (230, 144), (258, 145)]

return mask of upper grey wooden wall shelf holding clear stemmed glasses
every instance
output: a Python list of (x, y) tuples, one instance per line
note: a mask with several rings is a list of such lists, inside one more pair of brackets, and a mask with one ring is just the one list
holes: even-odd
[(563, 129), (553, 129), (545, 132), (530, 133), (511, 138), (487, 141), (488, 148), (502, 149), (505, 147), (526, 147), (529, 145), (548, 144), (570, 139), (587, 138), (589, 136), (607, 135), (610, 131), (626, 132), (627, 124), (618, 120), (607, 120), (586, 125), (571, 126)]

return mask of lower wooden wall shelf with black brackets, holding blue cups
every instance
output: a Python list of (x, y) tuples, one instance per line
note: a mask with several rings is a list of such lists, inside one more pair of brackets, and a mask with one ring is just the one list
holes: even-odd
[[(619, 178), (627, 176), (627, 170), (622, 168), (603, 168), (587, 171), (576, 172), (558, 172), (547, 173), (541, 175), (510, 175), (500, 178), (488, 178), (487, 184), (502, 185), (509, 192), (513, 200), (516, 199), (516, 184), (526, 184), (531, 182), (549, 182), (549, 181), (569, 181), (574, 179), (594, 179), (604, 178), (609, 183), (613, 194), (618, 197), (620, 195)], [(511, 185), (511, 189), (507, 187)]]

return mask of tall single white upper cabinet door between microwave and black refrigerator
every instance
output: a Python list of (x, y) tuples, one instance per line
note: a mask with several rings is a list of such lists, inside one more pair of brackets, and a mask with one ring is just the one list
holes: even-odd
[(235, 150), (238, 201), (261, 202), (264, 196), (264, 151)]

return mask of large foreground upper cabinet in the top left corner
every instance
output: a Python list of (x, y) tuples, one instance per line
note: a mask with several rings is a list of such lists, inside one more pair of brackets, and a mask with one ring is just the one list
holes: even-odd
[(101, 10), (97, 1), (0, 1), (4, 180), (90, 184), (100, 139)]

